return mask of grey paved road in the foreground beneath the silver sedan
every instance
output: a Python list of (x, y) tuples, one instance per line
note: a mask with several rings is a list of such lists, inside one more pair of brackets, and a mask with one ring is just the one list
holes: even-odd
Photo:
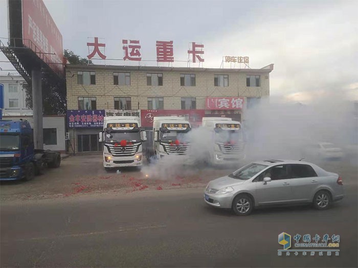
[[(332, 209), (271, 208), (237, 217), (200, 189), (1, 206), (1, 266), (357, 267), (357, 185)], [(340, 235), (340, 256), (277, 256), (278, 234)]]

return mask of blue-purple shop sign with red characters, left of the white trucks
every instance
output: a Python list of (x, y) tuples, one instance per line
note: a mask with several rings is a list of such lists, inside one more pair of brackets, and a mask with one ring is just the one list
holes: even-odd
[(69, 128), (103, 128), (104, 110), (67, 110)]

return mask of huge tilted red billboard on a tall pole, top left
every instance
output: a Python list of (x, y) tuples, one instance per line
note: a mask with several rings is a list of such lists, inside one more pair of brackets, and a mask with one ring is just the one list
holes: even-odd
[(46, 6), (42, 0), (23, 0), (22, 8), (24, 45), (56, 73), (63, 74), (62, 35)]

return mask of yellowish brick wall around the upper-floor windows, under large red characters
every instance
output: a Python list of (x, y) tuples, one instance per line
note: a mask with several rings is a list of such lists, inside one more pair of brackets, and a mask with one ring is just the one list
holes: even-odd
[[(96, 85), (78, 85), (77, 71), (95, 71)], [(130, 72), (130, 86), (119, 86), (113, 83), (113, 72)], [(147, 72), (162, 73), (163, 86), (147, 86)], [(181, 74), (195, 74), (195, 87), (181, 87)], [(228, 87), (215, 87), (214, 75), (229, 75)], [(252, 75), (255, 75), (253, 72)], [(207, 97), (222, 97), (222, 96), (240, 96), (240, 97), (260, 97), (268, 96), (270, 94), (270, 79), (269, 70), (267, 73), (260, 73), (261, 86), (247, 87), (246, 76), (247, 73), (237, 71), (230, 72), (225, 69), (220, 71), (204, 71), (202, 68), (193, 68), (190, 71), (141, 71), (128, 70), (125, 67), (114, 68), (98, 68), (96, 65), (93, 68), (85, 66), (85, 69), (78, 67), (72, 68), (71, 65), (67, 68), (67, 98), (68, 109), (78, 109), (78, 96), (91, 96), (97, 98), (97, 109), (114, 109), (114, 97), (131, 97), (132, 109), (148, 109), (148, 97), (163, 97), (164, 109), (181, 109), (181, 97), (195, 97), (196, 108), (205, 109), (205, 98)], [(246, 100), (244, 100), (246, 103)]]

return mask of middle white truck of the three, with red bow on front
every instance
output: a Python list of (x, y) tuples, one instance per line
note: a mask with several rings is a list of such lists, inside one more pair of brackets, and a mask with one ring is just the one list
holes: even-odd
[(166, 155), (187, 155), (189, 148), (188, 132), (191, 126), (182, 116), (156, 116), (153, 118), (152, 144), (146, 150), (148, 162), (154, 157)]

